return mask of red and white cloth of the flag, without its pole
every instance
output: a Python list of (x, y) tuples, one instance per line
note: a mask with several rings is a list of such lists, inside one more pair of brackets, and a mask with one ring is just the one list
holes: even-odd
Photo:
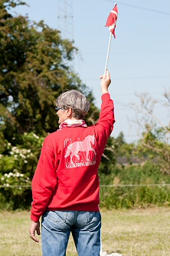
[(115, 4), (113, 10), (110, 12), (109, 17), (107, 18), (105, 27), (109, 27), (110, 32), (113, 34), (114, 38), (116, 38), (115, 35), (115, 28), (116, 28), (116, 21), (118, 17), (118, 8)]

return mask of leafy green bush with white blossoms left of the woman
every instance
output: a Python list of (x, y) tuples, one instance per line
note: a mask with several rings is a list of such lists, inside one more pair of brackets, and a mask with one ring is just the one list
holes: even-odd
[(31, 204), (31, 180), (44, 138), (33, 132), (21, 136), (21, 145), (6, 142), (0, 155), (0, 210), (28, 208)]

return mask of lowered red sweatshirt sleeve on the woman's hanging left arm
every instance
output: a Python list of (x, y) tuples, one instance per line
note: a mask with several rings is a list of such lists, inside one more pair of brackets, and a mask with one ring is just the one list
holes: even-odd
[(48, 138), (46, 138), (41, 149), (41, 156), (32, 180), (32, 221), (39, 221), (39, 218), (47, 207), (51, 194), (57, 186), (55, 167), (55, 163), (57, 162), (56, 157), (57, 156), (54, 155), (54, 152), (49, 147)]

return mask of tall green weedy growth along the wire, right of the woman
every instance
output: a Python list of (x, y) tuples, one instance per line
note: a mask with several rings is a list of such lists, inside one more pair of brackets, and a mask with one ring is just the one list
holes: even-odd
[(143, 167), (116, 167), (110, 177), (100, 175), (100, 208), (169, 205), (170, 187), (166, 186), (166, 183), (170, 183), (170, 177), (162, 175), (159, 168), (150, 162)]

